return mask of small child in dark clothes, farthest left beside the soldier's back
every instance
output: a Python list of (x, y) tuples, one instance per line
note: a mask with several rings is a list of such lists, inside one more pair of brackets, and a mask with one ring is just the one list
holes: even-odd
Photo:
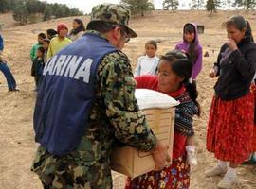
[(33, 60), (31, 76), (35, 78), (35, 85), (36, 85), (35, 91), (37, 91), (38, 89), (39, 80), (40, 80), (40, 77), (42, 76), (43, 68), (45, 66), (44, 54), (45, 54), (45, 48), (43, 46), (40, 46), (37, 49), (37, 57), (35, 60)]

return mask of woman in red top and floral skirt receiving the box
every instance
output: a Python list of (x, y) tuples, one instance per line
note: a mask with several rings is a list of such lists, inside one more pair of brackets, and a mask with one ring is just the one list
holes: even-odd
[(161, 57), (157, 76), (136, 77), (137, 88), (162, 92), (180, 101), (175, 110), (173, 163), (161, 171), (151, 171), (128, 179), (126, 189), (183, 188), (190, 186), (190, 165), (187, 163), (187, 139), (193, 135), (192, 116), (199, 114), (195, 85), (189, 82), (192, 61), (179, 51)]

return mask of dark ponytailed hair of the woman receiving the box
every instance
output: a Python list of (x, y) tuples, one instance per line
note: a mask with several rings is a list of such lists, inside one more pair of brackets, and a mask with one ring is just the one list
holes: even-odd
[(173, 72), (177, 76), (184, 77), (184, 80), (181, 84), (184, 84), (186, 91), (189, 93), (193, 103), (196, 105), (198, 109), (197, 115), (199, 116), (201, 113), (201, 108), (196, 100), (198, 97), (198, 91), (196, 89), (196, 83), (191, 82), (192, 60), (188, 60), (187, 56), (178, 50), (166, 53), (160, 58), (160, 61), (161, 60), (166, 60), (169, 62)]

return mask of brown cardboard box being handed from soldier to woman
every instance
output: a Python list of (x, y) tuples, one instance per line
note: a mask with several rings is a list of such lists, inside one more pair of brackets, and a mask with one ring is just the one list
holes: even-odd
[[(143, 110), (150, 128), (158, 140), (169, 145), (170, 156), (173, 156), (174, 143), (174, 108)], [(116, 147), (111, 157), (113, 170), (135, 178), (154, 170), (155, 162), (150, 152), (138, 151), (130, 146)]]

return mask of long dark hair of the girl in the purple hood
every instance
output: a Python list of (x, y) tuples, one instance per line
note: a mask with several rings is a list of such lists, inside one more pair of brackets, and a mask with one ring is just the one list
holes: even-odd
[(194, 26), (192, 24), (187, 24), (184, 27), (184, 34), (185, 33), (190, 33), (190, 34), (194, 33), (194, 39), (192, 43), (190, 43), (189, 52), (188, 52), (188, 58), (189, 60), (192, 60), (192, 63), (194, 64), (196, 60), (196, 42), (195, 42), (196, 31)]

